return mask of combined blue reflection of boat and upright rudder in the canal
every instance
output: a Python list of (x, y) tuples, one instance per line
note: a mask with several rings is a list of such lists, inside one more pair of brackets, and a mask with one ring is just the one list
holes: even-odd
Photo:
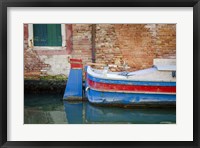
[(70, 124), (174, 124), (176, 109), (126, 109), (64, 101)]

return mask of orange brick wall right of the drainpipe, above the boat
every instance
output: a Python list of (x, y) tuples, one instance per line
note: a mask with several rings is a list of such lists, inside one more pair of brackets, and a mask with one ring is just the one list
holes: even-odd
[(176, 25), (100, 24), (96, 28), (96, 58), (100, 63), (126, 62), (138, 70), (151, 67), (154, 58), (176, 55)]

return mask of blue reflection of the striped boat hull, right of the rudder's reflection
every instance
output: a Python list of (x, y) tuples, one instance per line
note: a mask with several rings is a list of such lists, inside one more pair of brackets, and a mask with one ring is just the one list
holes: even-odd
[(86, 104), (88, 123), (175, 123), (175, 110), (104, 108)]

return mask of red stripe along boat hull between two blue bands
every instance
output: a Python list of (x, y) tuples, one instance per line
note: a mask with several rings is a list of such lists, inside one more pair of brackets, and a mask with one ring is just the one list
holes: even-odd
[(91, 88), (108, 90), (108, 91), (176, 93), (175, 86), (141, 86), (141, 85), (108, 84), (108, 83), (94, 82), (90, 79), (87, 80), (87, 83)]

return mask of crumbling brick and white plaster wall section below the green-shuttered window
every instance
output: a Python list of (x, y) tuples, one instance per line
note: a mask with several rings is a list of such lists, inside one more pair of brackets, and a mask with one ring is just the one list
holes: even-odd
[(45, 51), (28, 48), (24, 52), (25, 76), (63, 75), (67, 76), (70, 70), (67, 52)]

